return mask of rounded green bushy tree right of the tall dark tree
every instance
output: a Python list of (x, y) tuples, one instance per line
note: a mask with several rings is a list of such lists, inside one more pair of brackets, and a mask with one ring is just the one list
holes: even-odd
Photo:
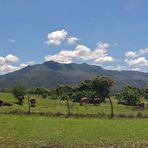
[(135, 106), (140, 101), (141, 92), (138, 88), (133, 86), (125, 86), (120, 92), (120, 100), (124, 101), (127, 105)]

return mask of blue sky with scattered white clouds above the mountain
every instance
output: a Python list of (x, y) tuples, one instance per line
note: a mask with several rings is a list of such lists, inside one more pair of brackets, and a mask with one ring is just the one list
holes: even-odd
[(50, 60), (148, 72), (148, 0), (0, 0), (0, 74)]

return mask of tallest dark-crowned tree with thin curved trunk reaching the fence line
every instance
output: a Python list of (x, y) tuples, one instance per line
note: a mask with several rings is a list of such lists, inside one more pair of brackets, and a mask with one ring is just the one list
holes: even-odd
[(113, 104), (112, 100), (109, 96), (111, 87), (113, 85), (113, 80), (109, 77), (97, 77), (92, 82), (92, 88), (96, 91), (96, 94), (100, 97), (101, 102), (105, 101), (106, 98), (109, 99), (110, 106), (111, 106), (111, 114), (110, 118), (113, 118)]

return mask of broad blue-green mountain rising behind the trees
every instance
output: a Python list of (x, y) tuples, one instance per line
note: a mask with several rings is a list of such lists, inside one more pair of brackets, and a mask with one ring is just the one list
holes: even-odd
[(58, 84), (76, 85), (84, 79), (109, 76), (115, 81), (115, 88), (133, 85), (143, 88), (148, 84), (148, 73), (138, 71), (106, 70), (99, 66), (83, 64), (60, 64), (54, 61), (33, 66), (0, 76), (0, 88), (22, 84), (27, 87), (43, 86), (54, 88)]

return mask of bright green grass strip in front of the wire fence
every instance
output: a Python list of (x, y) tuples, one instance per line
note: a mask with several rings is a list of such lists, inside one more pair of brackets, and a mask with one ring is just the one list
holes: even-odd
[(148, 120), (0, 115), (0, 148), (148, 147)]

